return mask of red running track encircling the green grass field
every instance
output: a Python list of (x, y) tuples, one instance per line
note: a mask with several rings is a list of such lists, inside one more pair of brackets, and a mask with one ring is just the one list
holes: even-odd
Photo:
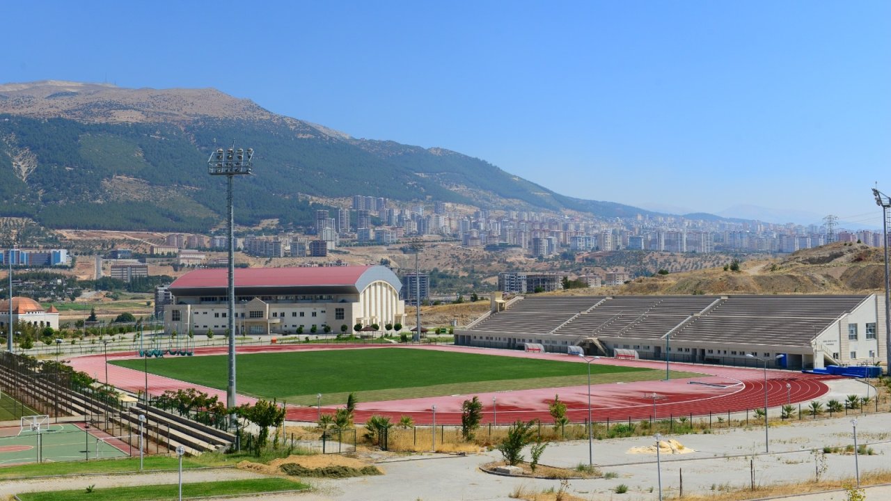
[[(307, 349), (438, 349), (465, 353), (482, 353), (503, 357), (533, 357), (561, 360), (570, 363), (584, 363), (578, 357), (559, 354), (526, 353), (501, 349), (477, 349), (454, 346), (364, 346), (364, 345), (268, 345), (239, 347), (239, 353), (257, 353), (282, 350)], [(196, 349), (196, 356), (220, 355), (227, 352), (225, 347)], [(109, 358), (134, 358), (135, 355), (115, 354)], [(615, 360), (599, 358), (592, 362), (598, 365), (625, 365), (664, 369), (664, 362), (644, 360)], [(102, 355), (72, 358), (71, 365), (79, 371), (93, 375), (103, 381), (105, 365)], [(591, 388), (592, 418), (603, 422), (649, 419), (654, 406), (651, 395), (656, 393), (656, 418), (669, 416), (708, 415), (740, 412), (764, 407), (764, 370), (737, 368), (716, 365), (692, 365), (673, 363), (673, 370), (704, 374), (701, 377), (676, 379), (671, 381), (625, 382), (596, 384)], [(117, 365), (108, 366), (109, 382), (123, 390), (138, 392), (145, 387), (143, 372)], [(189, 382), (149, 374), (149, 391), (159, 394), (165, 390), (196, 388), (217, 395), (225, 401), (225, 390), (196, 386)], [(787, 402), (797, 403), (818, 398), (829, 388), (822, 380), (837, 379), (836, 376), (801, 374), (791, 371), (767, 371), (767, 398), (769, 407), (779, 407)], [(787, 390), (787, 384), (789, 390)], [(484, 406), (484, 423), (511, 423), (516, 420), (552, 420), (548, 405), (554, 395), (568, 407), (568, 418), (573, 422), (583, 422), (588, 417), (587, 385), (565, 386), (537, 390), (498, 391), (475, 394)], [(462, 402), (473, 395), (451, 395), (429, 398), (410, 398), (380, 402), (361, 402), (356, 408), (356, 422), (363, 423), (372, 415), (384, 415), (394, 421), (401, 416), (411, 416), (415, 423), (430, 423), (433, 419), (432, 406), (437, 406), (437, 423), (460, 424)], [(495, 398), (495, 405), (493, 405)], [(256, 401), (239, 395), (237, 402)], [(322, 413), (333, 413), (335, 407), (323, 407)], [(316, 407), (289, 406), (287, 418), (290, 421), (315, 422), (319, 410)]]

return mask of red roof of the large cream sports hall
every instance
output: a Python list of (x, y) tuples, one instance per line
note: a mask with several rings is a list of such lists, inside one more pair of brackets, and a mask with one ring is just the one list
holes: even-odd
[[(366, 267), (283, 267), (236, 268), (236, 287), (295, 287), (308, 285), (354, 285)], [(226, 268), (204, 268), (190, 271), (170, 284), (170, 289), (225, 287)]]

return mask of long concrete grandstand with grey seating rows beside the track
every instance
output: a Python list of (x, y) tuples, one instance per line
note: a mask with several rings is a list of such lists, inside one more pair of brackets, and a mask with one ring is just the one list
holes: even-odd
[[(875, 294), (820, 296), (528, 296), (492, 311), (455, 344), (727, 365), (819, 368), (884, 360), (884, 303)], [(623, 351), (625, 352), (625, 351)]]

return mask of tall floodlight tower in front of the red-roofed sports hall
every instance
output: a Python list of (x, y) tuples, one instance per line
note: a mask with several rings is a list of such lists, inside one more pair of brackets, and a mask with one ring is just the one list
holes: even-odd
[(251, 174), (251, 160), (254, 150), (248, 148), (237, 150), (233, 146), (228, 150), (218, 148), (208, 159), (208, 174), (226, 177), (226, 238), (229, 241), (229, 384), (226, 387), (226, 407), (235, 407), (235, 211), (233, 209), (232, 178)]

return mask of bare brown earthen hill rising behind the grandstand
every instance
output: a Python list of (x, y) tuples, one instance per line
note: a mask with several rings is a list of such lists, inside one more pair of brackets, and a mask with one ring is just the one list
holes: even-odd
[(884, 292), (882, 250), (830, 243), (784, 259), (745, 261), (739, 272), (713, 268), (637, 278), (621, 294), (794, 294)]

